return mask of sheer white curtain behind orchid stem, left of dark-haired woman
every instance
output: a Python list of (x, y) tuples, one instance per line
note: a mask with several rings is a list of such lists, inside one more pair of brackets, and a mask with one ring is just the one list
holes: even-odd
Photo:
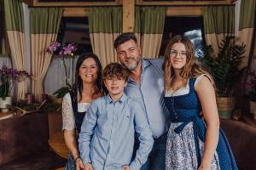
[[(65, 63), (67, 65), (67, 80), (69, 84), (74, 82), (74, 71), (78, 57), (66, 58)], [(60, 57), (54, 57), (49, 65), (49, 69), (44, 79), (44, 93), (53, 94), (65, 84), (65, 68), (63, 61)]]

